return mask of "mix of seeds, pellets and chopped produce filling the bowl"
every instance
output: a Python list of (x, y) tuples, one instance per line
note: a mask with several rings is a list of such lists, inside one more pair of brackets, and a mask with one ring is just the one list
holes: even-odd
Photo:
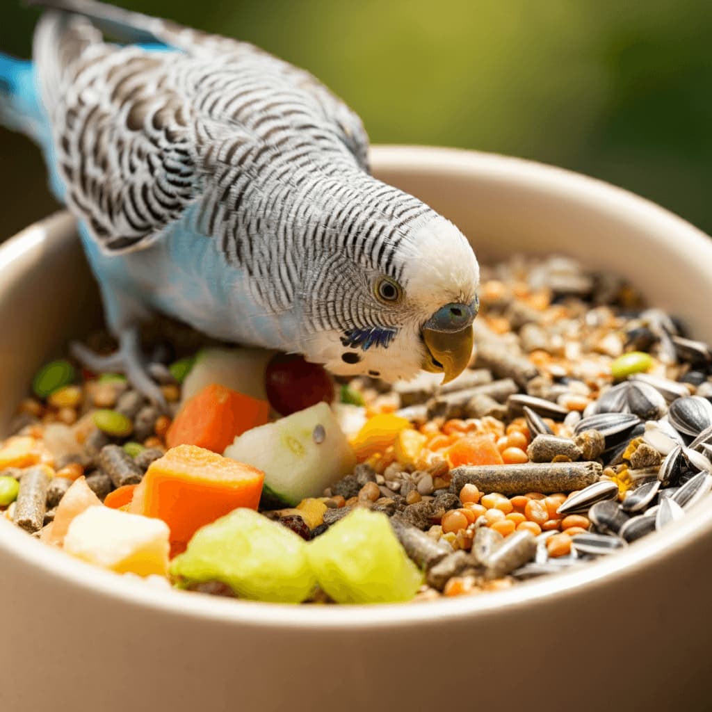
[(569, 258), (482, 274), (470, 366), (444, 385), (334, 380), (174, 325), (145, 334), (162, 407), (48, 363), (0, 445), (0, 514), (166, 587), (372, 603), (586, 565), (706, 499), (708, 346)]

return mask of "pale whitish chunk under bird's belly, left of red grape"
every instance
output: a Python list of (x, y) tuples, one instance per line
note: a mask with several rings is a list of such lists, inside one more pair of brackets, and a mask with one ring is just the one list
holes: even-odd
[(265, 369), (272, 354), (262, 349), (202, 349), (183, 381), (182, 402), (211, 383), (266, 400)]

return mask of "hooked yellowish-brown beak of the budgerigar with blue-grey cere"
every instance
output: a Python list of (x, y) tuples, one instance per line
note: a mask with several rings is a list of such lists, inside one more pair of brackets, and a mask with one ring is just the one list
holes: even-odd
[(422, 362), (422, 369), (444, 373), (444, 384), (458, 377), (470, 362), (472, 322), (477, 310), (477, 299), (471, 304), (446, 304), (423, 325), (421, 334), (428, 355)]

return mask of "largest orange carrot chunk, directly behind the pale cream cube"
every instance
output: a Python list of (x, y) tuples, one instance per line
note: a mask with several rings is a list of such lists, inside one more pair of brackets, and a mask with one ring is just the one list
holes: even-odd
[(264, 473), (194, 445), (179, 445), (152, 462), (130, 511), (164, 520), (171, 542), (187, 543), (205, 524), (238, 507), (256, 509)]

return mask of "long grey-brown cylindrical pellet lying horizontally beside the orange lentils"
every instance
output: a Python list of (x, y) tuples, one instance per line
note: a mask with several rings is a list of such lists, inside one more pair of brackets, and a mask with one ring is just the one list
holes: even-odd
[(483, 492), (501, 492), (506, 495), (570, 492), (594, 483), (602, 472), (597, 462), (463, 465), (452, 471), (450, 491), (458, 494), (466, 484), (473, 484)]

